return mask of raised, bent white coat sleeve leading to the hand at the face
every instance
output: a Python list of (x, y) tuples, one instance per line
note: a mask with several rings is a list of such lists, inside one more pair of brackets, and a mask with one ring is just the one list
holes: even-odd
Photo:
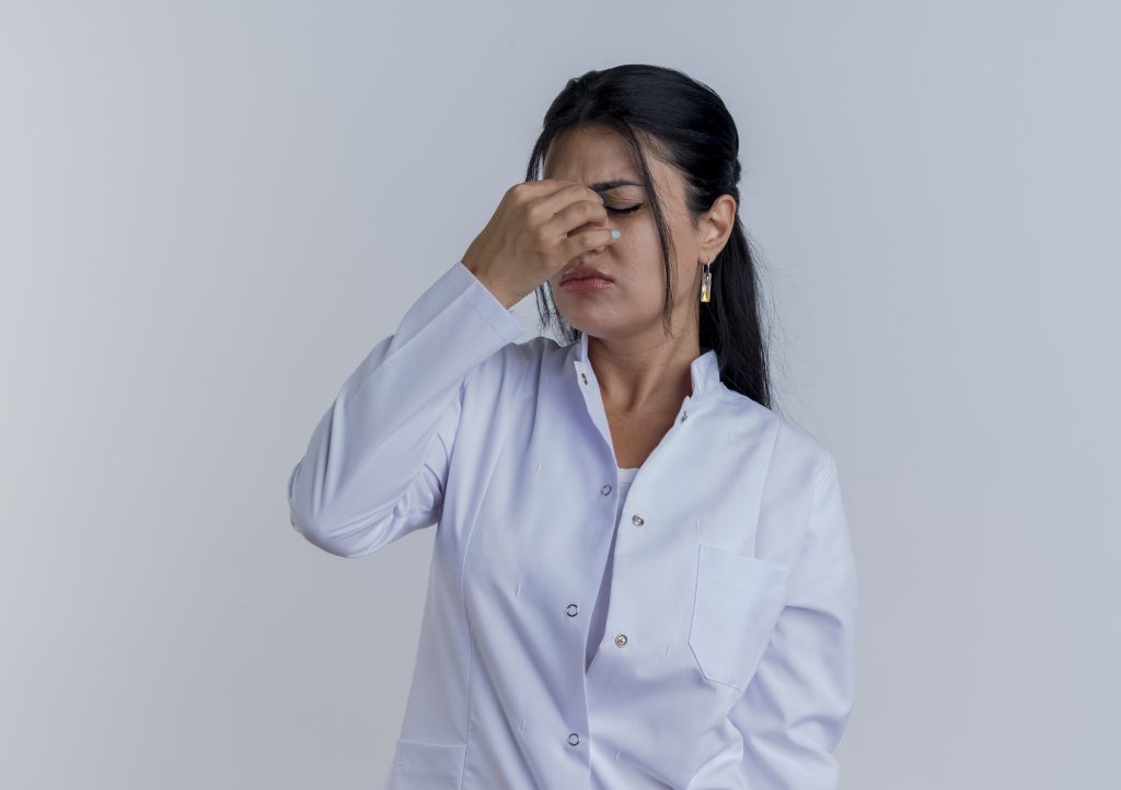
[(463, 388), (524, 331), (462, 261), (374, 345), (323, 415), (288, 477), (291, 526), (341, 557), (434, 524)]

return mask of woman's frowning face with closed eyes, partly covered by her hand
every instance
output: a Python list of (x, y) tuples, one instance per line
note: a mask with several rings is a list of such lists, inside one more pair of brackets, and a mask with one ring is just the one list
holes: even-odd
[[(724, 196), (715, 222), (702, 216), (694, 227), (685, 208), (685, 182), (671, 166), (647, 149), (647, 166), (661, 199), (663, 214), (669, 225), (676, 253), (670, 266), (676, 271), (671, 294), (673, 332), (678, 336), (695, 336), (697, 301), (701, 294), (702, 263), (720, 252), (728, 238), (734, 215), (734, 201)], [(641, 177), (630, 164), (623, 138), (602, 127), (569, 130), (554, 139), (545, 157), (543, 177), (576, 182), (587, 187), (611, 180), (633, 182), (600, 192), (608, 210), (606, 226), (622, 231), (614, 242), (568, 261), (549, 278), (557, 310), (574, 327), (596, 337), (664, 338), (661, 323), (665, 296), (661, 245), (650, 210), (649, 195), (640, 186)], [(731, 203), (729, 211), (728, 203)], [(721, 224), (728, 227), (721, 227)], [(595, 223), (600, 224), (600, 223)], [(573, 229), (569, 235), (595, 226), (593, 223)], [(562, 287), (562, 278), (571, 270), (594, 267), (613, 282), (594, 290)], [(683, 334), (683, 331), (687, 331)]]

